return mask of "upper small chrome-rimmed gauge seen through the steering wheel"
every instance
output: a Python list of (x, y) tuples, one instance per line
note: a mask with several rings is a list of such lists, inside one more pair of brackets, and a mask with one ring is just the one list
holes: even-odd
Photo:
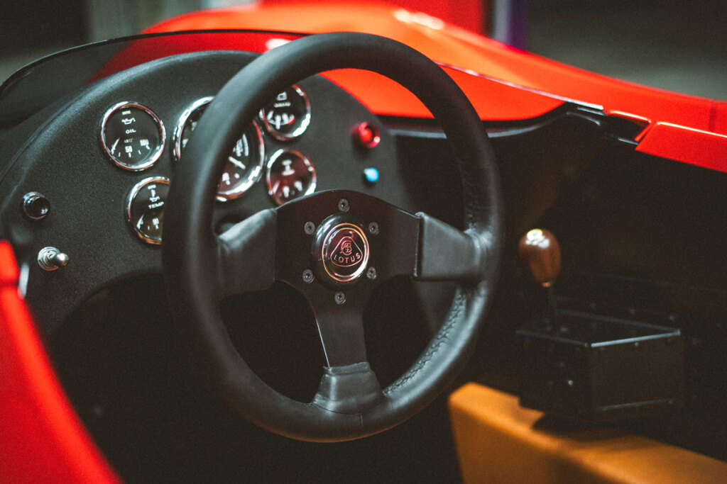
[(281, 141), (297, 138), (310, 123), (310, 102), (300, 86), (290, 86), (260, 111), (260, 120)]

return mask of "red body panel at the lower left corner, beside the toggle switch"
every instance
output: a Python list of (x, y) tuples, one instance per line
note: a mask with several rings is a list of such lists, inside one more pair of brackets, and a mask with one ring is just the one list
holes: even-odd
[(12, 248), (0, 241), (0, 480), (119, 482), (63, 393), (17, 278)]

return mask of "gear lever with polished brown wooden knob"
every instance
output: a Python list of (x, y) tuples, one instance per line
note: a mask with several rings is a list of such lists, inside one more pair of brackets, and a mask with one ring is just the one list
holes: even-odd
[(561, 272), (561, 246), (558, 245), (558, 239), (550, 231), (532, 229), (520, 239), (518, 253), (535, 282), (545, 287), (551, 321), (555, 322), (553, 282)]

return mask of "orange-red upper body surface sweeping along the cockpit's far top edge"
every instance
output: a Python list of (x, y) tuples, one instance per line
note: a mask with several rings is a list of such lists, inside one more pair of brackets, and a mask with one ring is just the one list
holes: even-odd
[[(391, 4), (347, 2), (276, 2), (182, 15), (159, 23), (148, 32), (220, 28), (276, 29), (323, 33), (356, 30), (394, 38), (438, 62), (456, 65), (508, 83), (545, 91), (560, 97), (632, 112), (645, 118), (676, 123), (704, 131), (725, 129), (725, 103), (675, 94), (597, 75), (523, 52), (497, 41), (449, 25), (433, 17), (417, 17)], [(375, 88), (375, 86), (374, 86)], [(371, 97), (381, 94), (371, 89)], [(489, 93), (467, 92), (470, 98)], [(476, 102), (476, 99), (475, 99)], [(502, 103), (502, 100), (498, 99)], [(523, 118), (513, 107), (512, 118)], [(720, 132), (720, 131), (716, 131)], [(722, 134), (727, 134), (724, 131)]]

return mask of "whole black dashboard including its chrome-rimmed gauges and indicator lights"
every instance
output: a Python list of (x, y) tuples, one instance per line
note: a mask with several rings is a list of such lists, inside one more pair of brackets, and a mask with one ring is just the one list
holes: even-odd
[[(13, 192), (34, 194), (35, 204), (28, 202), (17, 223), (69, 258), (59, 270), (29, 268), (27, 297), (49, 334), (99, 287), (161, 271), (158, 245), (175, 166), (193, 163), (184, 148), (198, 119), (252, 58), (181, 54), (111, 75), (65, 100), (17, 154), (13, 163), (27, 168)], [(217, 233), (314, 190), (354, 189), (413, 209), (391, 163), (393, 137), (379, 126), (324, 78), (281, 92), (230, 149), (217, 193)], [(39, 205), (48, 205), (47, 213), (32, 218)]]

